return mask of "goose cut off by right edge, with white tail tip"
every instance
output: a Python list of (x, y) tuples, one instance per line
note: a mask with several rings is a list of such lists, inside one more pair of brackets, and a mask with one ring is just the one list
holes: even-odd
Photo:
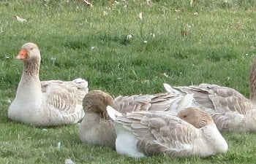
[(256, 131), (256, 58), (249, 77), (250, 98), (230, 87), (200, 84), (188, 87), (171, 87), (169, 93), (193, 94), (198, 106), (205, 107), (220, 131)]

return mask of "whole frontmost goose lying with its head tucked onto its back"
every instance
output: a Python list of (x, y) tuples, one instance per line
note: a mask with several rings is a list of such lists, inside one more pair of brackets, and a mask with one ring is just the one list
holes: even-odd
[(228, 149), (211, 116), (195, 107), (181, 109), (178, 114), (162, 111), (122, 114), (111, 106), (107, 106), (107, 111), (115, 122), (119, 155), (208, 157)]

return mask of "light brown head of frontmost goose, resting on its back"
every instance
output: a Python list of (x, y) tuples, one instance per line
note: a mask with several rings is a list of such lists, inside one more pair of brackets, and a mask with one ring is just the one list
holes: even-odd
[(189, 107), (178, 112), (177, 116), (182, 120), (194, 125), (195, 128), (203, 128), (206, 125), (214, 124), (209, 114), (197, 108)]

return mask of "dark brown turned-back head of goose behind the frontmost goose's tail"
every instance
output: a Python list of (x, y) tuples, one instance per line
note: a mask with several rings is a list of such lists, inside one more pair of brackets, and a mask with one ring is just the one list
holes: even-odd
[(94, 112), (100, 114), (103, 119), (109, 119), (106, 110), (108, 105), (113, 104), (113, 97), (101, 90), (92, 90), (83, 98), (84, 112)]

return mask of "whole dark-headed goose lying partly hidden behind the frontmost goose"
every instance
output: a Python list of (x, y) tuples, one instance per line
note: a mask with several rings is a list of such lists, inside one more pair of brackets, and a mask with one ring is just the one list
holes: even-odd
[(121, 113), (138, 111), (176, 111), (176, 108), (192, 106), (192, 95), (172, 93), (153, 95), (119, 95), (113, 98), (102, 90), (91, 90), (83, 98), (85, 117), (79, 127), (80, 141), (92, 145), (115, 148), (116, 132), (106, 107), (113, 106)]

